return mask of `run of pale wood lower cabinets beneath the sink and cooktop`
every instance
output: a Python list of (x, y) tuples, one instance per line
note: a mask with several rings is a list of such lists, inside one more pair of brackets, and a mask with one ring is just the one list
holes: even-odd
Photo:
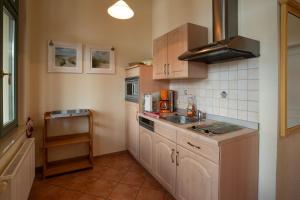
[(146, 131), (140, 133), (140, 162), (177, 200), (258, 199), (256, 130), (245, 128), (214, 141), (163, 120), (153, 121), (152, 171), (147, 167), (152, 151)]

